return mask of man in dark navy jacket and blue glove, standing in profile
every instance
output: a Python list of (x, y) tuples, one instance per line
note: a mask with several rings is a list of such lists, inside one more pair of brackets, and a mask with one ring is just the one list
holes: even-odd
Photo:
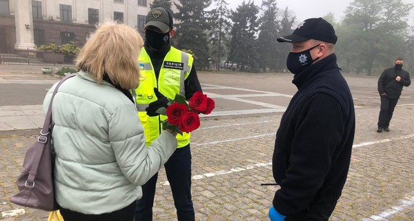
[(273, 177), (280, 185), (269, 210), (272, 221), (328, 220), (351, 162), (355, 111), (337, 66), (337, 36), (322, 18), (306, 19), (279, 37), (292, 49), (287, 67), (297, 93), (276, 134)]

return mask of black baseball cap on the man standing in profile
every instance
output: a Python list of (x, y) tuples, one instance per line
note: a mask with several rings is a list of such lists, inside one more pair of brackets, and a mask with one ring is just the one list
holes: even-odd
[(338, 37), (335, 35), (333, 26), (322, 18), (306, 19), (299, 23), (292, 35), (277, 38), (279, 42), (295, 43), (315, 39), (336, 44)]

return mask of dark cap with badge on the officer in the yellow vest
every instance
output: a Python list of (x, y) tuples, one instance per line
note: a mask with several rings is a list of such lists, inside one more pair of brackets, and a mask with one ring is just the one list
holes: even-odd
[(172, 15), (165, 8), (152, 8), (145, 20), (145, 26), (155, 26), (162, 32), (173, 28)]

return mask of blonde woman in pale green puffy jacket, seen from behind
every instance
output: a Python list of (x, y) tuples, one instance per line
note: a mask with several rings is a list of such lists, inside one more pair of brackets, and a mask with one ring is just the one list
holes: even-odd
[[(134, 220), (141, 185), (177, 148), (171, 131), (146, 148), (130, 94), (139, 84), (143, 43), (124, 24), (102, 23), (77, 57), (79, 73), (55, 95), (55, 195), (65, 221)], [(45, 113), (55, 86), (43, 102)]]

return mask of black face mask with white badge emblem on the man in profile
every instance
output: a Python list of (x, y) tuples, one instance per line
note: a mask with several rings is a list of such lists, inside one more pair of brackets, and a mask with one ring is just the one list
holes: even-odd
[[(319, 45), (320, 44), (317, 46)], [(311, 50), (317, 46), (313, 46), (312, 48), (301, 52), (290, 52), (288, 59), (286, 60), (286, 66), (288, 66), (288, 70), (290, 70), (290, 72), (294, 75), (297, 75), (308, 68), (308, 66), (311, 66), (313, 62), (319, 59), (319, 57), (317, 57), (313, 60), (311, 56)]]

